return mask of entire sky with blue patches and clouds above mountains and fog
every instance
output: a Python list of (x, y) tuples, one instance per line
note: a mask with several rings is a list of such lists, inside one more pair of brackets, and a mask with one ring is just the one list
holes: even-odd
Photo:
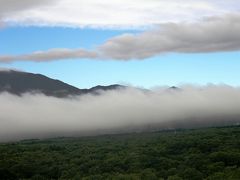
[(0, 0), (0, 67), (79, 88), (240, 86), (239, 0)]

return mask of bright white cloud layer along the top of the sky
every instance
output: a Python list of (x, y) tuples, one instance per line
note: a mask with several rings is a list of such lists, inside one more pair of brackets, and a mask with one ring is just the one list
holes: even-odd
[(239, 0), (2, 0), (0, 10), (7, 12), (3, 20), (13, 24), (129, 28), (237, 12), (239, 4)]

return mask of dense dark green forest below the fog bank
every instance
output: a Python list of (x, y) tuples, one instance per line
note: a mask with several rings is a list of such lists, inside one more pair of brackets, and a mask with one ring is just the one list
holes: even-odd
[(0, 144), (0, 179), (240, 179), (240, 126)]

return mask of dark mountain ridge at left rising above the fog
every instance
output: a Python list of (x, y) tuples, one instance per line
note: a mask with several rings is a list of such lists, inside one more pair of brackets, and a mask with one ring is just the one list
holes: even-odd
[(97, 94), (124, 86), (115, 84), (110, 86), (96, 86), (90, 89), (78, 89), (62, 81), (48, 78), (41, 74), (20, 71), (0, 71), (0, 92), (9, 92), (15, 95), (23, 93), (43, 93), (47, 96), (66, 97), (69, 95), (82, 95), (87, 93)]

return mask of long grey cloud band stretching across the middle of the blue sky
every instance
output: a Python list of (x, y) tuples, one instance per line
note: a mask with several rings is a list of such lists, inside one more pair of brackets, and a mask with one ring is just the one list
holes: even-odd
[(165, 23), (154, 30), (108, 39), (95, 50), (56, 48), (24, 55), (1, 55), (0, 62), (60, 59), (142, 60), (166, 53), (240, 50), (240, 14), (209, 17), (194, 23)]

